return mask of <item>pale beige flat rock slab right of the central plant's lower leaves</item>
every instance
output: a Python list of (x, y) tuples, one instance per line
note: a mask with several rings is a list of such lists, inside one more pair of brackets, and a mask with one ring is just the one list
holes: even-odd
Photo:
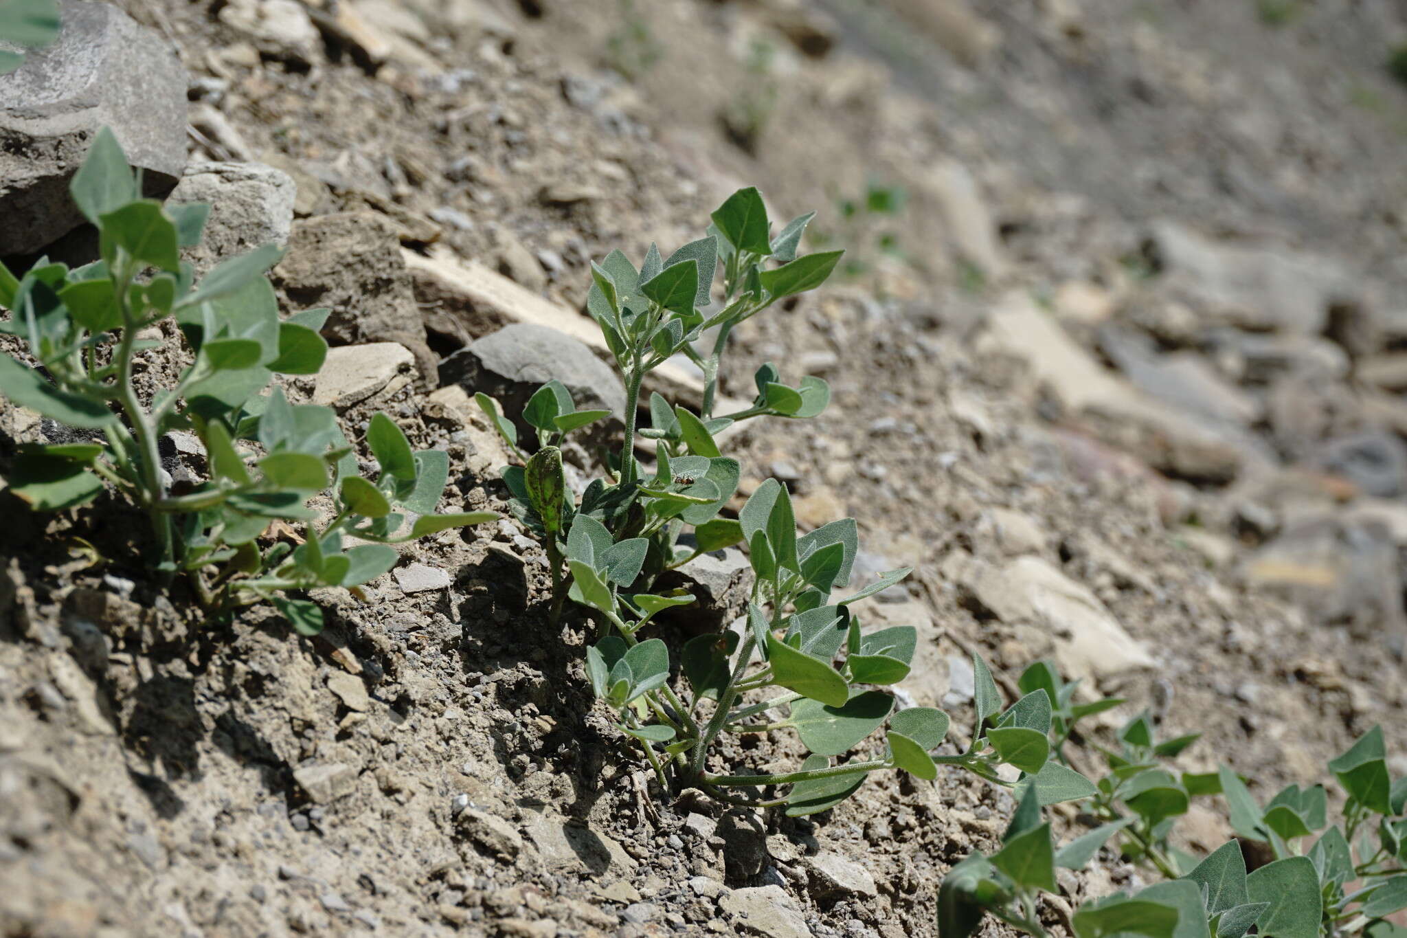
[(1017, 557), (1000, 567), (972, 564), (962, 586), (1002, 622), (1050, 631), (1067, 676), (1109, 681), (1157, 667), (1095, 593), (1040, 557)]

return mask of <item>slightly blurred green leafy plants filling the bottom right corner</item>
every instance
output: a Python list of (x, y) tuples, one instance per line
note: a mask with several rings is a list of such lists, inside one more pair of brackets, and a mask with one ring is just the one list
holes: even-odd
[[(1023, 690), (1061, 702), (1051, 724), (1057, 751), (1074, 719), (1116, 703), (1069, 706), (1071, 686), (1047, 662), (1021, 675)], [(1342, 820), (1332, 825), (1323, 785), (1290, 785), (1262, 807), (1225, 766), (1197, 775), (1161, 764), (1192, 745), (1196, 734), (1158, 741), (1150, 719), (1138, 716), (1117, 737), (1120, 750), (1103, 751), (1109, 773), (1075, 799), (1099, 825), (1057, 847), (1051, 825), (1040, 818), (1038, 789), (1024, 792), (1002, 849), (991, 858), (968, 856), (944, 879), (943, 938), (967, 938), (985, 914), (1044, 938), (1037, 903), (1041, 892), (1055, 892), (1055, 868), (1079, 869), (1112, 840), (1121, 841), (1124, 856), (1148, 862), (1165, 879), (1083, 906), (1071, 918), (1076, 938), (1244, 938), (1252, 927), (1269, 938), (1401, 934), (1386, 917), (1407, 908), (1407, 778), (1390, 778), (1380, 728), (1328, 764), (1346, 797)], [(1263, 844), (1273, 861), (1248, 872), (1237, 841), (1200, 861), (1169, 847), (1190, 799), (1210, 795), (1225, 796), (1233, 830)]]

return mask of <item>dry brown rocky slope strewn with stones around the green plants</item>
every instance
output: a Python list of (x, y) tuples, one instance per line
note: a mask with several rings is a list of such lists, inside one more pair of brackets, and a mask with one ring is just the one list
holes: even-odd
[[(1151, 709), (1206, 734), (1185, 769), (1228, 762), (1262, 796), (1323, 780), (1373, 723), (1400, 741), (1400, 4), (117, 6), (144, 39), (82, 120), (144, 128), (149, 181), (214, 203), (197, 264), (287, 243), (280, 295), (332, 307), (336, 346), (288, 392), (447, 449), (440, 510), (504, 505), (474, 390), (549, 363), (620, 399), (563, 338), (599, 345), (588, 260), (681, 243), (757, 184), (855, 263), (739, 330), (725, 392), (764, 360), (834, 388), (822, 418), (732, 440), (743, 488), (775, 475), (803, 526), (854, 515), (874, 570), (916, 567), (861, 610), (920, 627), (913, 700), (961, 727), (968, 650), (1009, 676), (1052, 657), (1128, 699), (1102, 731)], [(86, 139), (24, 149), (13, 82), (0, 200)], [(145, 387), (173, 363), (152, 353)], [(0, 470), (53, 432), (0, 411)], [(173, 443), (167, 468), (198, 475)], [(6, 935), (929, 935), (943, 873), (1012, 809), (961, 775), (874, 778), (810, 820), (657, 790), (591, 712), (587, 630), (549, 626), (546, 561), (509, 522), (318, 596), (308, 640), (263, 608), (201, 626), (117, 499), (0, 499)], [(698, 578), (726, 609), (729, 561)], [(733, 755), (799, 754), (777, 734)], [(1179, 834), (1225, 835), (1216, 803)], [(1044, 911), (1142, 878), (1106, 855)]]

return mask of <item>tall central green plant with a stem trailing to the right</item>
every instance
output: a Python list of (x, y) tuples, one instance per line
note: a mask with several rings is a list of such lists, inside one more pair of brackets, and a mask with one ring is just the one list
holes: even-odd
[[(575, 411), (557, 383), (543, 385), (523, 419), (536, 429), (540, 449), (526, 465), (507, 467), (504, 480), (516, 518), (542, 539), (554, 582), (554, 609), (563, 598), (594, 610), (601, 638), (587, 651), (587, 675), (619, 728), (639, 741), (661, 783), (673, 772), (720, 800), (787, 804), (794, 816), (822, 811), (851, 795), (868, 772), (900, 768), (931, 779), (938, 765), (958, 765), (1000, 785), (998, 766), (1016, 766), (1036, 779), (1043, 803), (1092, 793), (1074, 771), (1050, 762), (1045, 731), (1051, 713), (1036, 698), (1003, 713), (986, 665), (981, 679), (981, 716), (971, 745), (961, 754), (934, 755), (947, 735), (948, 717), (915, 707), (895, 712), (891, 695), (877, 688), (902, 681), (910, 668), (917, 633), (912, 627), (865, 631), (850, 606), (885, 589), (908, 570), (881, 575), (850, 595), (858, 550), (854, 519), (836, 520), (798, 534), (791, 495), (775, 480), (763, 482), (737, 519), (720, 518), (737, 488), (737, 460), (725, 457), (718, 435), (758, 416), (810, 418), (830, 399), (813, 377), (784, 384), (771, 363), (754, 375), (757, 397), (749, 406), (715, 416), (718, 375), (730, 330), (787, 297), (819, 287), (841, 252), (798, 256), (812, 215), (794, 219), (775, 236), (756, 188), (734, 193), (713, 212), (709, 233), (668, 259), (650, 246), (640, 270), (620, 252), (592, 264), (588, 309), (601, 326), (626, 387), (625, 437), (612, 457), (609, 478), (591, 482), (580, 502), (570, 494), (556, 443), (564, 433), (604, 416)], [(704, 312), (722, 267), (722, 300)], [(705, 350), (695, 345), (708, 338)], [(687, 354), (702, 370), (702, 408), (694, 413), (650, 398), (649, 428), (636, 428), (644, 375), (674, 354)], [(518, 433), (497, 404), (480, 406), (516, 450)], [(635, 457), (636, 437), (654, 442), (654, 464)], [(692, 544), (681, 544), (685, 526)], [(656, 578), (704, 551), (746, 544), (754, 572), (746, 627), (698, 636), (684, 644), (677, 690), (668, 647), (642, 638), (654, 617), (691, 595), (653, 592)], [(687, 685), (687, 689), (684, 689)], [(1044, 699), (1040, 698), (1040, 699)], [(787, 716), (768, 714), (787, 709)], [(888, 724), (886, 750), (871, 759), (832, 765)], [(795, 771), (765, 775), (713, 772), (711, 755), (723, 733), (795, 731), (810, 757)], [(777, 799), (744, 799), (734, 788), (789, 786)]]

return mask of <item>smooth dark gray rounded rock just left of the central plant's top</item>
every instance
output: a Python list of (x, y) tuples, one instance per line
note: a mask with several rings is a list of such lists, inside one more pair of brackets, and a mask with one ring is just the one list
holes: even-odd
[(521, 413), (533, 391), (552, 378), (567, 385), (577, 409), (625, 413), (625, 387), (611, 366), (585, 343), (547, 326), (504, 326), (440, 363), (440, 384), (498, 397), (507, 413)]

